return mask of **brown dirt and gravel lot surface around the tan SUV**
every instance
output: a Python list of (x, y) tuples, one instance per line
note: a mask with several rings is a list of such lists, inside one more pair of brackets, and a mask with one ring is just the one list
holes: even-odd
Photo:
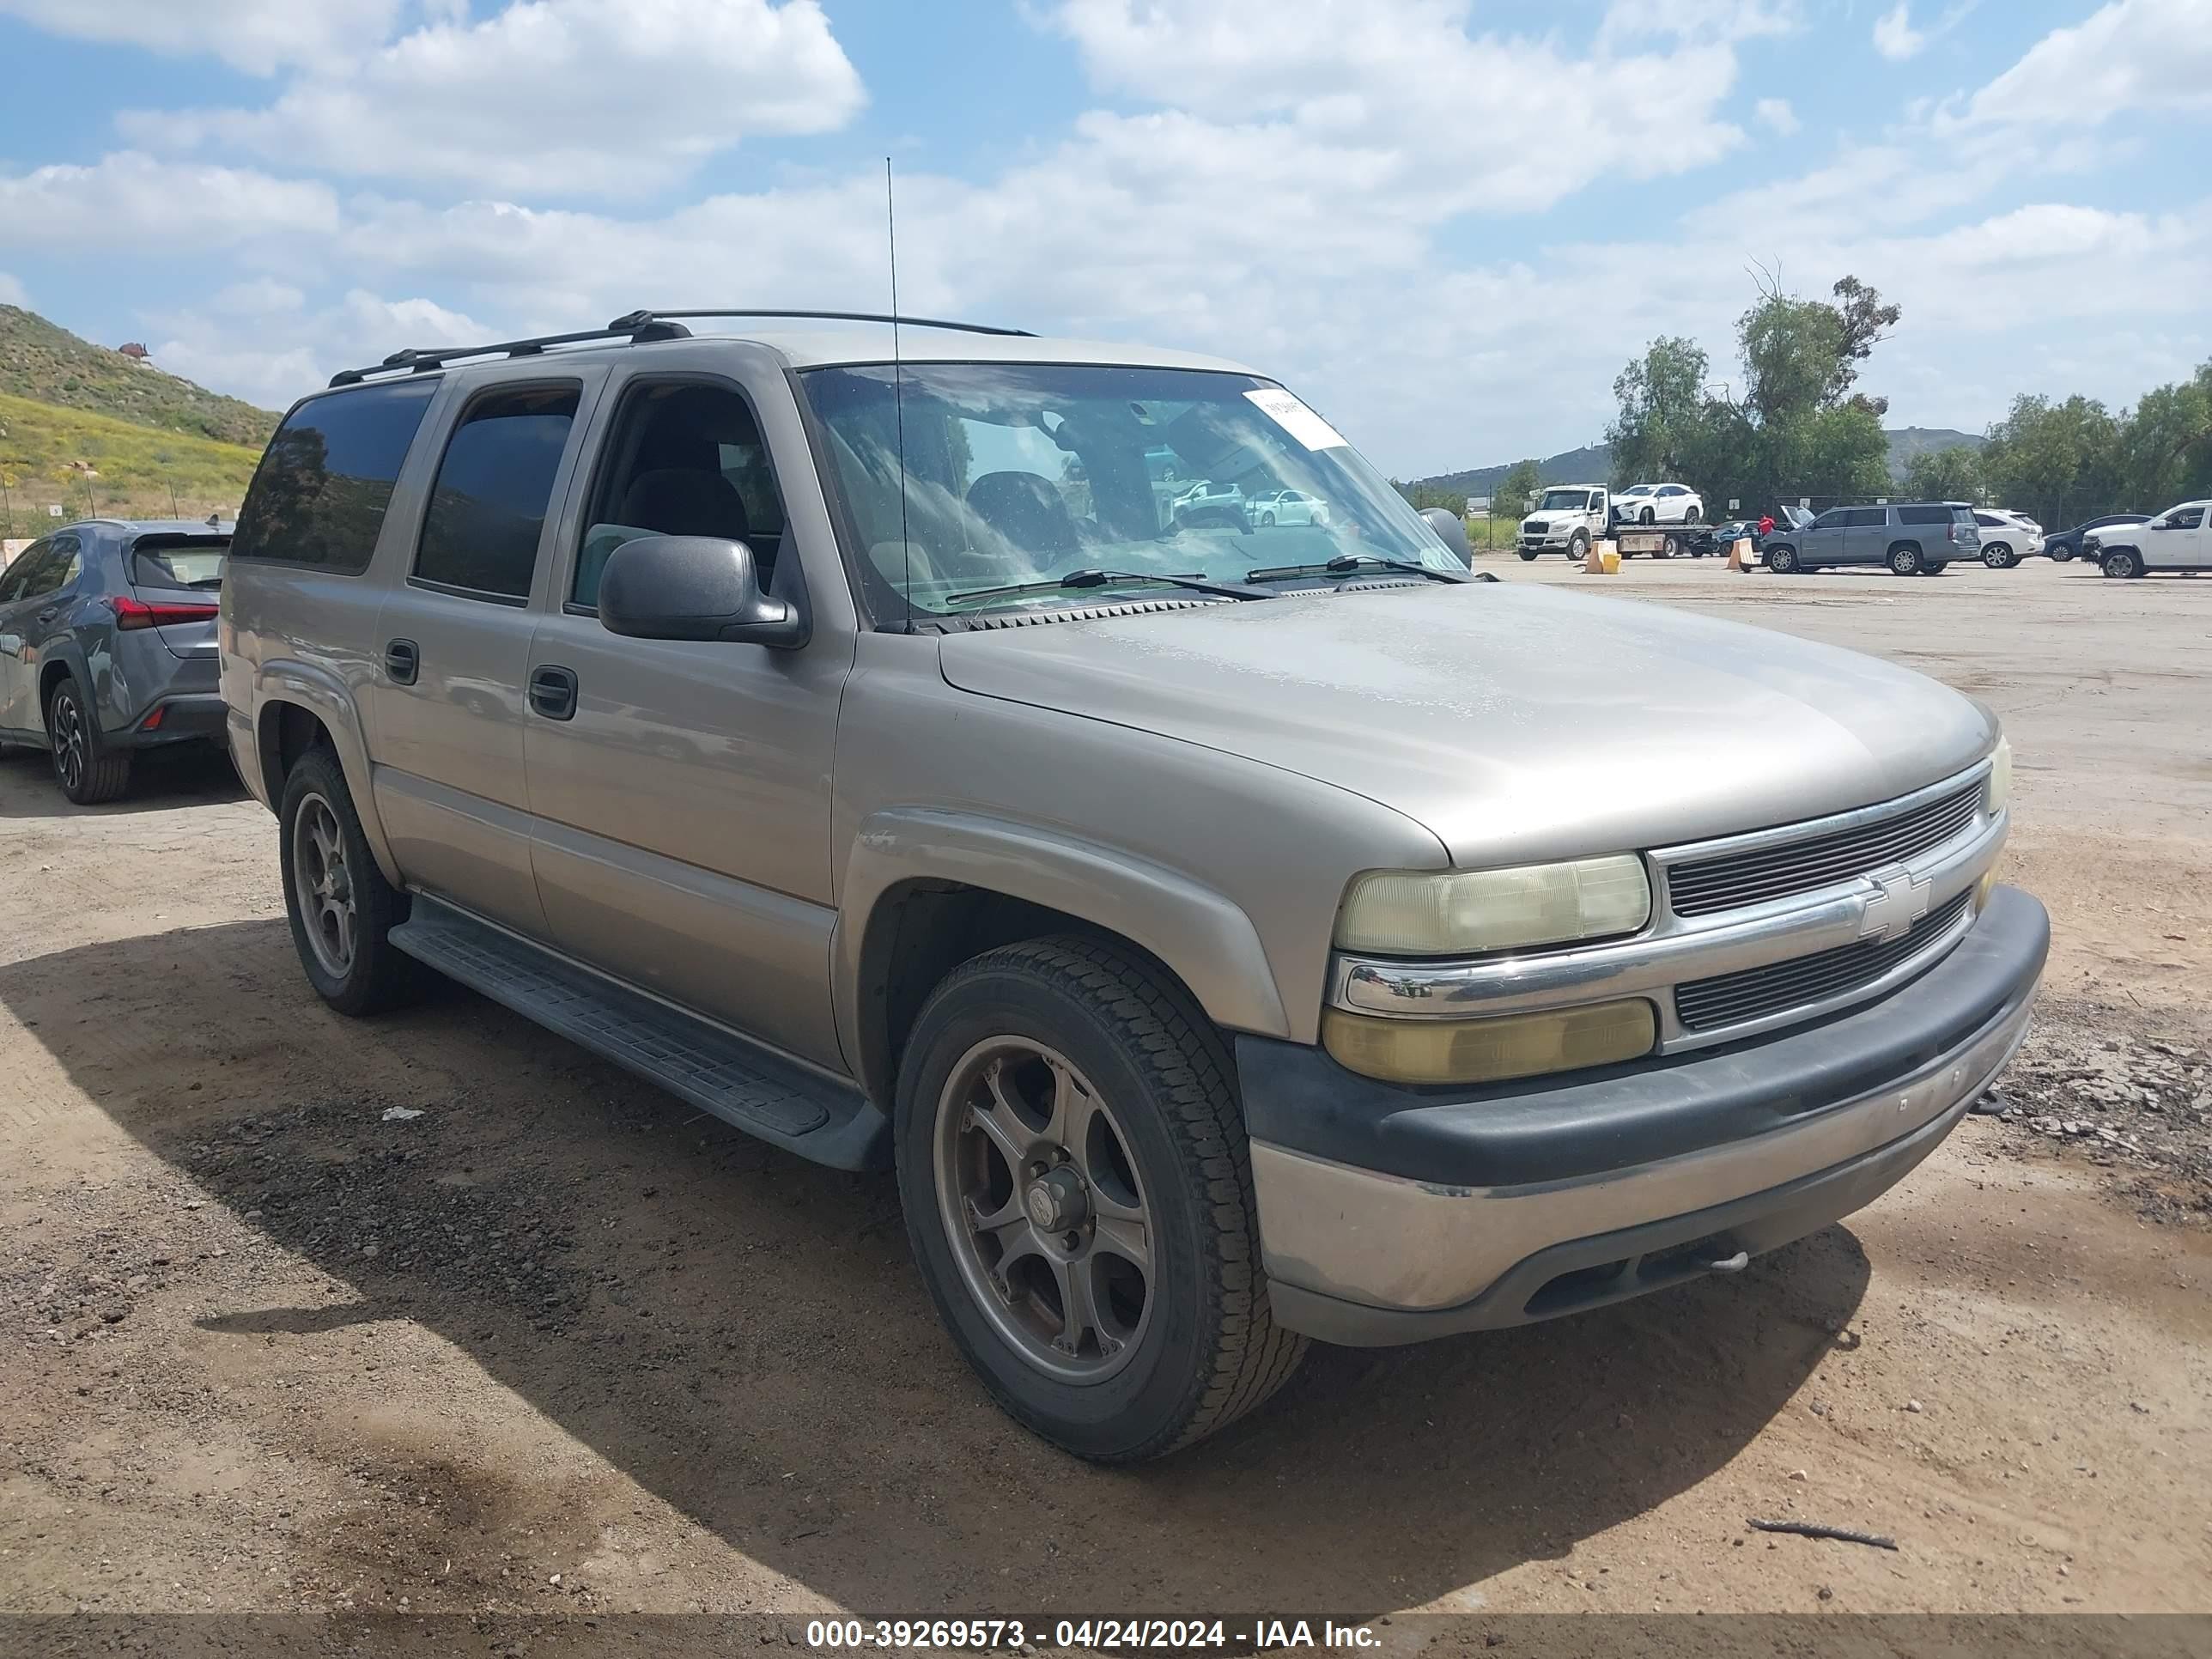
[(1736, 1279), (1316, 1349), (1137, 1471), (984, 1400), (889, 1177), (460, 991), (341, 1020), (226, 768), (0, 761), (0, 1610), (2212, 1608), (2212, 580), (1604, 586), (2004, 717), (2057, 936), (2008, 1115)]

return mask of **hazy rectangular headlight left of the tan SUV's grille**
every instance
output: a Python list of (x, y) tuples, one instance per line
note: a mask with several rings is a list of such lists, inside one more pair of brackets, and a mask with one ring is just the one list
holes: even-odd
[(1471, 956), (1635, 933), (1652, 887), (1635, 854), (1517, 869), (1376, 869), (1345, 891), (1336, 942), (1383, 956)]

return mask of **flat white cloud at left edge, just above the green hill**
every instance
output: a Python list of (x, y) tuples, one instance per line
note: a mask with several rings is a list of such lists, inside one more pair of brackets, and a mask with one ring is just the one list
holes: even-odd
[(119, 150), (93, 166), (0, 175), (0, 223), (18, 248), (69, 239), (111, 250), (150, 243), (166, 259), (179, 248), (327, 237), (338, 228), (338, 201), (321, 184)]

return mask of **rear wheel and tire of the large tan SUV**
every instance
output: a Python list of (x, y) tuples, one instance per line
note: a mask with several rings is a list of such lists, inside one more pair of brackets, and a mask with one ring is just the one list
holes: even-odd
[(307, 984), (356, 1018), (414, 1000), (422, 969), (389, 940), (414, 900), (376, 867), (336, 754), (314, 748), (299, 759), (276, 823), (283, 902)]

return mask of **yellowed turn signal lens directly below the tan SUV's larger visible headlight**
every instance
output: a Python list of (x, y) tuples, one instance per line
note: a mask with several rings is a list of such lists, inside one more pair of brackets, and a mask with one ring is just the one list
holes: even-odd
[(1650, 1053), (1657, 1037), (1659, 1015), (1641, 998), (1493, 1020), (1321, 1015), (1321, 1046), (1338, 1066), (1394, 1084), (1491, 1084), (1610, 1066)]

